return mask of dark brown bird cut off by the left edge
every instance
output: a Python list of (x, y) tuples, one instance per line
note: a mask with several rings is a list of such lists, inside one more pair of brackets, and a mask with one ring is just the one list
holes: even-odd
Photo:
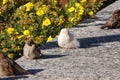
[(31, 74), (23, 69), (14, 60), (6, 57), (3, 52), (0, 52), (0, 76), (13, 76)]

